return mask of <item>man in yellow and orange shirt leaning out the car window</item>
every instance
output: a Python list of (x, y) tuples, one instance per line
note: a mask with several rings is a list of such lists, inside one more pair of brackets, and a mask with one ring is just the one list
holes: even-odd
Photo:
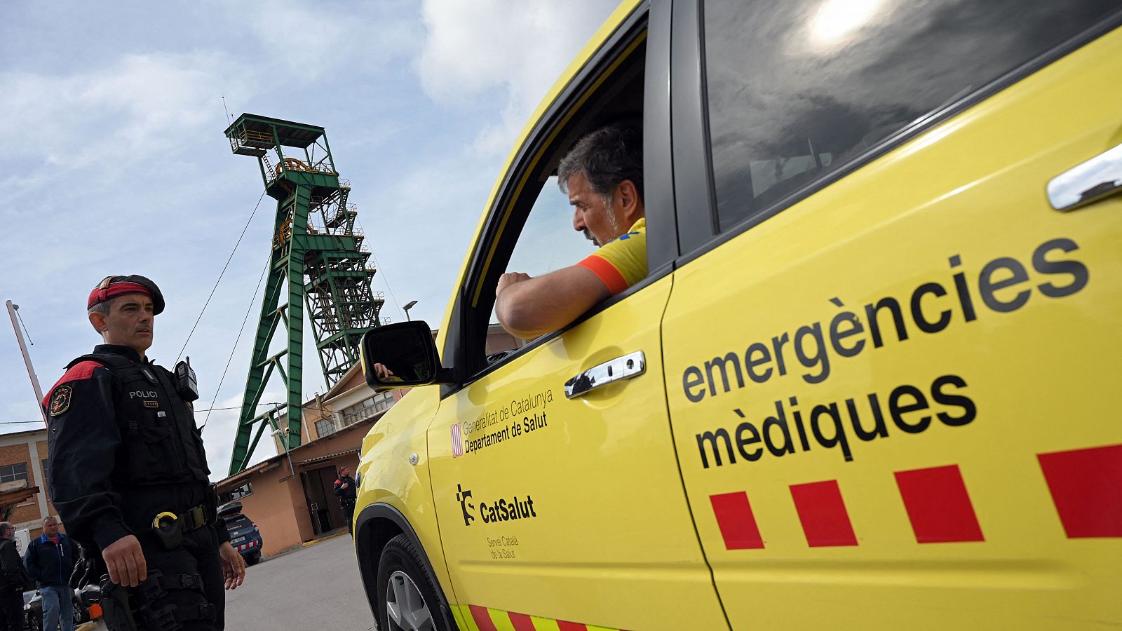
[(558, 165), (558, 184), (573, 205), (573, 229), (599, 249), (542, 276), (499, 277), (498, 321), (523, 339), (569, 324), (646, 276), (642, 128), (618, 122), (585, 136)]

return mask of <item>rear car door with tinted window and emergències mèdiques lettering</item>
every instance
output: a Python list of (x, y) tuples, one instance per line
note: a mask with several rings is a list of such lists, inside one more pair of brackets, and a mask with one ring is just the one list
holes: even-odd
[(1119, 3), (674, 19), (664, 368), (732, 627), (1122, 622)]

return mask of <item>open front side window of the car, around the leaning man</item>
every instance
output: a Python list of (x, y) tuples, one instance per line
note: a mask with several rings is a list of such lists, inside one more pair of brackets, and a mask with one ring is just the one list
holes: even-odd
[(642, 20), (622, 30), (613, 48), (589, 65), (590, 72), (545, 113), (546, 126), (534, 131), (523, 147), (522, 164), (511, 168), (485, 220), (467, 292), (456, 305), (461, 324), (449, 338), (451, 348), (460, 345), (458, 360), (469, 381), (536, 344), (506, 333), (497, 323), (499, 277), (507, 272), (539, 277), (596, 252), (592, 241), (573, 227), (573, 208), (558, 186), (557, 168), (585, 135), (608, 124), (642, 120), (645, 35)]

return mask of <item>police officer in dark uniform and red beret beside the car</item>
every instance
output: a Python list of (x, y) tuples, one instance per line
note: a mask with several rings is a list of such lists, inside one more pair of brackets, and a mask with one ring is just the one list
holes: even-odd
[(71, 362), (44, 399), (54, 505), (73, 538), (100, 551), (110, 630), (223, 629), (222, 589), (241, 584), (245, 561), (215, 516), (194, 373), (145, 356), (164, 296), (144, 276), (108, 276), (86, 309), (104, 344)]

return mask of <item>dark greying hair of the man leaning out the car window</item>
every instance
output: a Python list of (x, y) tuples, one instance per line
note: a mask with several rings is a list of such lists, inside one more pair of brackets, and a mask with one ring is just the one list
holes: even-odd
[(592, 192), (611, 207), (611, 194), (626, 180), (643, 201), (643, 129), (633, 122), (606, 125), (573, 145), (558, 165), (558, 186), (569, 192), (569, 179), (583, 173)]

